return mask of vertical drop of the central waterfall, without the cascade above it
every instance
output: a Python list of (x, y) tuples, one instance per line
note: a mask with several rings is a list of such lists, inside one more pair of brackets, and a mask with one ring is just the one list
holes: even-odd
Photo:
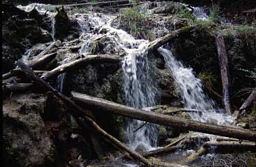
[[(142, 45), (143, 48), (143, 45)], [(152, 83), (147, 52), (143, 49), (136, 50), (127, 55), (123, 61), (125, 73), (125, 100), (133, 108), (155, 106), (156, 89)], [(140, 130), (144, 122), (127, 120), (127, 142), (131, 149), (152, 150), (157, 147), (155, 125), (148, 123)]]

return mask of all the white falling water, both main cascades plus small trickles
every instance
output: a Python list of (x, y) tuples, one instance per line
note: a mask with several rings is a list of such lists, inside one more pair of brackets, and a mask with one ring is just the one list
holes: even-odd
[[(39, 8), (40, 5), (37, 7), (42, 10)], [(20, 6), (20, 8), (29, 10), (29, 7)], [(208, 18), (204, 12), (196, 7), (194, 7), (194, 14), (200, 19)], [(105, 29), (107, 32), (105, 35), (110, 37), (116, 46), (119, 46), (126, 52), (122, 65), (125, 104), (140, 109), (155, 106), (157, 104), (157, 88), (155, 87), (152, 75), (153, 67), (148, 59), (149, 55), (146, 50), (149, 41), (136, 40), (129, 33), (112, 27), (110, 20), (113, 18), (114, 16), (105, 14), (75, 14), (73, 19), (76, 19), (81, 27), (79, 37), (81, 48), (78, 52), (85, 56), (90, 55), (94, 39), (99, 36), (99, 34), (90, 31), (90, 27), (94, 27), (94, 29)], [(51, 20), (51, 34), (54, 41), (54, 19)], [(185, 108), (199, 111), (189, 112), (193, 120), (211, 122), (218, 125), (229, 125), (233, 121), (231, 116), (225, 115), (223, 110), (218, 108), (215, 102), (207, 97), (203, 91), (201, 80), (194, 76), (191, 68), (184, 67), (181, 62), (175, 59), (172, 52), (166, 48), (159, 48), (158, 52), (164, 57), (166, 67), (170, 70), (173, 78), (175, 78), (177, 91), (179, 91), (183, 98)], [(68, 61), (63, 62), (68, 63)], [(65, 77), (65, 73), (57, 76), (57, 89), (60, 92), (63, 90)], [(143, 124), (143, 121), (127, 119), (127, 145), (136, 151), (156, 149), (156, 125), (147, 123), (140, 130), (134, 132)]]

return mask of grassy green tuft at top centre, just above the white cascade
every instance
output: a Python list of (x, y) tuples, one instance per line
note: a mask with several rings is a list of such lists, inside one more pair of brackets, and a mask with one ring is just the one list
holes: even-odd
[(123, 10), (123, 20), (126, 27), (132, 35), (142, 32), (142, 24), (144, 17), (140, 14), (139, 10), (135, 8), (127, 8)]

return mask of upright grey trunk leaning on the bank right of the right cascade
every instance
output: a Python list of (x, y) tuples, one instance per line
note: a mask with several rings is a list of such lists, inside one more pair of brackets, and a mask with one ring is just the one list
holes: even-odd
[(224, 37), (219, 33), (215, 34), (216, 44), (218, 48), (218, 61), (220, 64), (220, 74), (222, 80), (222, 101), (224, 108), (228, 114), (231, 114), (230, 98), (229, 98), (229, 61), (227, 59), (227, 52), (225, 48)]

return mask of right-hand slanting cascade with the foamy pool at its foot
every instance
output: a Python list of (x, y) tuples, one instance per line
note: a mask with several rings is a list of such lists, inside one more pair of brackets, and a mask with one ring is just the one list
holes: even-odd
[(204, 93), (201, 80), (194, 76), (192, 68), (183, 67), (170, 50), (159, 48), (158, 51), (163, 55), (166, 67), (175, 78), (185, 108), (199, 110), (199, 112), (188, 112), (190, 117), (196, 121), (230, 125), (233, 121), (232, 116), (225, 115), (224, 110), (218, 108), (216, 103)]

